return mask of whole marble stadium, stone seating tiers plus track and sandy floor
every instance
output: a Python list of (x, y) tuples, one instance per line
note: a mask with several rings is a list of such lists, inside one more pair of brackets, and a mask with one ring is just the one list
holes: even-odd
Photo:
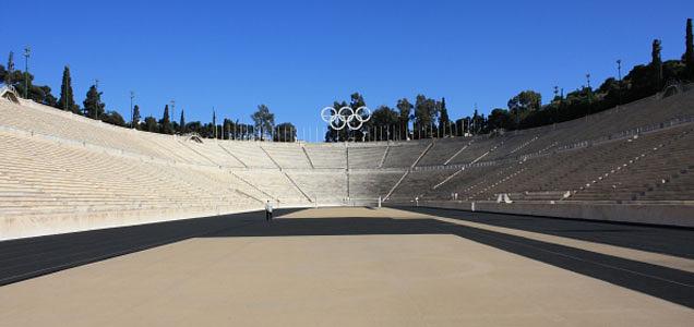
[(5, 89), (0, 325), (691, 326), (691, 88), (372, 143), (153, 134)]

